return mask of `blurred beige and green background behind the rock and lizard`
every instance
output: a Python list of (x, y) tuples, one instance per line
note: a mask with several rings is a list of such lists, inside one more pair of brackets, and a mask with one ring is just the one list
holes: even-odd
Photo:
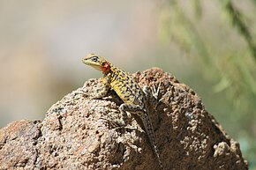
[(0, 128), (100, 78), (94, 52), (192, 87), (256, 169), (255, 0), (3, 0), (0, 23)]

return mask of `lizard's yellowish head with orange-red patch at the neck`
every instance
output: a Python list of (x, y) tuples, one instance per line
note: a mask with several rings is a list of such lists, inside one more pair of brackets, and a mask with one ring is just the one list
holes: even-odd
[(83, 63), (94, 67), (96, 70), (102, 70), (102, 73), (109, 72), (110, 63), (99, 55), (89, 54), (82, 58)]

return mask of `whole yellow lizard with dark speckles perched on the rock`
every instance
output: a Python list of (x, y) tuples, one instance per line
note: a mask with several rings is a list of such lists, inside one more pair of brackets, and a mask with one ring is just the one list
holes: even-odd
[(105, 97), (109, 90), (113, 89), (117, 92), (119, 98), (124, 101), (119, 107), (122, 116), (121, 122), (118, 122), (119, 125), (124, 126), (127, 123), (128, 116), (126, 112), (139, 116), (146, 129), (147, 137), (154, 150), (158, 164), (163, 169), (162, 161), (154, 141), (154, 130), (148, 115), (149, 110), (147, 106), (149, 98), (153, 97), (154, 101), (157, 102), (161, 84), (158, 85), (158, 88), (155, 85), (153, 85), (153, 88), (149, 88), (147, 85), (140, 88), (132, 78), (132, 75), (112, 65), (100, 55), (86, 55), (82, 58), (82, 62), (92, 66), (96, 70), (101, 70), (103, 74), (103, 78), (101, 79), (102, 90), (94, 96), (94, 99)]

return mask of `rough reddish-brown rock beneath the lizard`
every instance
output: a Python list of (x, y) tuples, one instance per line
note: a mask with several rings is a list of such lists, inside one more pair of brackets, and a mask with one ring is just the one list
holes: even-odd
[[(239, 144), (192, 89), (157, 68), (133, 76), (141, 86), (162, 82), (162, 101), (150, 116), (164, 169), (248, 169)], [(0, 169), (158, 169), (138, 118), (124, 128), (111, 123), (120, 118), (117, 94), (88, 98), (99, 85), (88, 80), (49, 108), (42, 122), (0, 129)]]

